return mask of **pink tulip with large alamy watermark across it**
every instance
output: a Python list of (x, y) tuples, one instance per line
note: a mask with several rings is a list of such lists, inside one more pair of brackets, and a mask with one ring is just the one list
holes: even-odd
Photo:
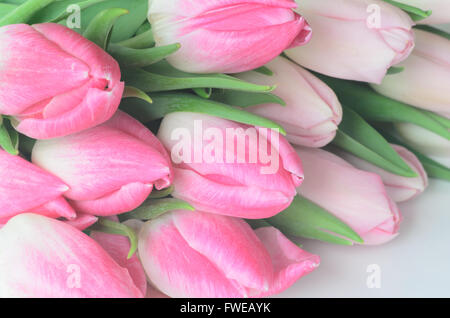
[(266, 128), (177, 112), (164, 118), (158, 137), (175, 164), (172, 195), (201, 211), (271, 217), (290, 205), (303, 180), (292, 146)]

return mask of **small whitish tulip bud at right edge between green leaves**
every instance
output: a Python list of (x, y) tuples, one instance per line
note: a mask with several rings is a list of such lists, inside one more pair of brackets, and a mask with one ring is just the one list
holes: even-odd
[(408, 145), (420, 153), (434, 158), (450, 158), (450, 140), (409, 123), (395, 124), (395, 130)]

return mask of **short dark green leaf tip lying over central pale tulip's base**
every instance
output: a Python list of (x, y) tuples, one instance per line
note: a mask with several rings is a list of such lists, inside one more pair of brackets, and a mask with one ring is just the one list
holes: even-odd
[(286, 103), (278, 96), (271, 93), (238, 92), (230, 90), (214, 90), (211, 99), (228, 105), (249, 107), (264, 104), (278, 104), (286, 106)]

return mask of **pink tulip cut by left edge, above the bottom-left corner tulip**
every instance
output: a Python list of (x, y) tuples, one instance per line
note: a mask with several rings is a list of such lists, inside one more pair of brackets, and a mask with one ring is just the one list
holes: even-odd
[(59, 178), (3, 150), (0, 162), (0, 224), (25, 212), (53, 218), (76, 217), (63, 198), (69, 187)]

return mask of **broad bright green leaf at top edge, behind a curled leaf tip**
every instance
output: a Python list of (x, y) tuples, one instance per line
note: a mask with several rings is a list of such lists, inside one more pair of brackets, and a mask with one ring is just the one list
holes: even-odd
[(120, 17), (111, 33), (111, 42), (116, 43), (132, 37), (136, 30), (147, 20), (148, 0), (108, 0), (90, 6), (81, 15), (81, 33), (90, 22), (106, 9), (122, 8), (129, 14)]

